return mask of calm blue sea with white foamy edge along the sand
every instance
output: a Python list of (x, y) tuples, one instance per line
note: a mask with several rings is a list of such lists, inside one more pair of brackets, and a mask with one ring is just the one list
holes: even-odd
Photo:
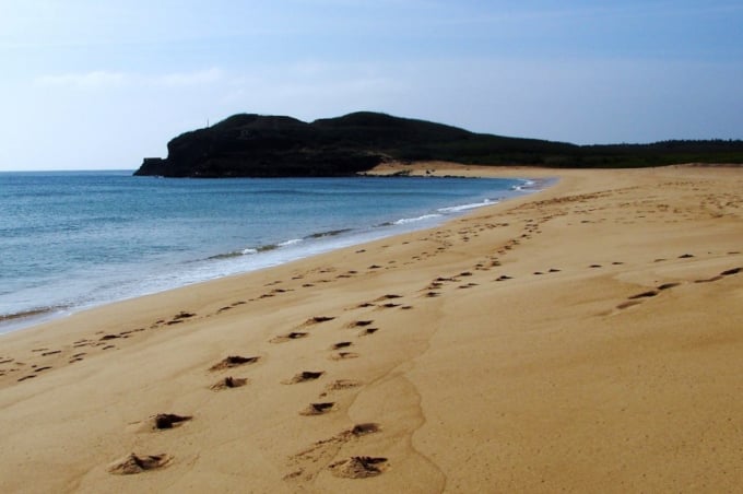
[(0, 173), (0, 332), (433, 226), (526, 180)]

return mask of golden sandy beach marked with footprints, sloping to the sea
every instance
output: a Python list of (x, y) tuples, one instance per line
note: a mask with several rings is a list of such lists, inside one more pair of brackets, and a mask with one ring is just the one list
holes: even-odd
[(0, 492), (740, 492), (743, 168), (405, 168), (559, 180), (0, 337)]

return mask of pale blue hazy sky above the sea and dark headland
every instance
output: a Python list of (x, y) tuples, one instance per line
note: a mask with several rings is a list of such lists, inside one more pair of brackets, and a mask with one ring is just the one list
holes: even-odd
[(135, 169), (238, 113), (743, 139), (740, 0), (0, 0), (0, 170)]

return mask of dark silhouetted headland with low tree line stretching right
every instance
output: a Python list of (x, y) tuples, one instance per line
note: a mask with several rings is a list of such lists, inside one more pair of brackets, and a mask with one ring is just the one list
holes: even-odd
[(145, 158), (135, 175), (344, 176), (368, 170), (388, 160), (552, 167), (743, 163), (743, 141), (579, 146), (474, 133), (370, 111), (310, 124), (292, 117), (240, 114), (178, 136), (168, 142), (166, 158)]

